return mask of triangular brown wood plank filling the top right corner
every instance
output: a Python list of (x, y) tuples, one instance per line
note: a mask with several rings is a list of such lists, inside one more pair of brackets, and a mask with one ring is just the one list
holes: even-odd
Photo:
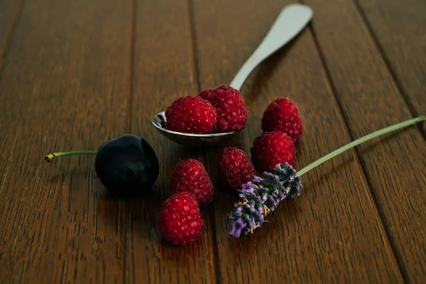
[(358, 3), (411, 109), (426, 114), (426, 1)]

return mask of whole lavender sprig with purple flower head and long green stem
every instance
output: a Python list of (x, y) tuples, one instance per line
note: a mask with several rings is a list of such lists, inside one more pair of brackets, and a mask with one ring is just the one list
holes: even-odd
[(276, 165), (274, 173), (263, 173), (263, 178), (255, 176), (251, 182), (242, 185), (242, 190), (239, 190), (241, 201), (234, 204), (234, 211), (229, 214), (231, 235), (238, 238), (241, 234), (253, 233), (254, 229), (267, 222), (265, 220), (266, 215), (273, 212), (280, 201), (285, 200), (288, 196), (290, 198), (299, 196), (302, 189), (301, 175), (372, 138), (425, 120), (426, 116), (419, 116), (370, 133), (324, 155), (314, 163), (302, 168), (299, 173), (291, 165), (285, 163)]

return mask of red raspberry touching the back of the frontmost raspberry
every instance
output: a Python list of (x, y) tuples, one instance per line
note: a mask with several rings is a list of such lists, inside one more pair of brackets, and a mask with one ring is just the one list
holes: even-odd
[(206, 207), (213, 199), (214, 187), (202, 163), (186, 159), (178, 163), (173, 170), (170, 192), (190, 192), (200, 207)]

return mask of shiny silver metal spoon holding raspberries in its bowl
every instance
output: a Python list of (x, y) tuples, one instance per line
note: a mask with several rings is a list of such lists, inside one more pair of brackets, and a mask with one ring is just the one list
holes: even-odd
[[(312, 9), (308, 6), (301, 4), (285, 6), (271, 26), (268, 34), (263, 38), (261, 44), (235, 75), (230, 86), (234, 89), (241, 89), (251, 72), (253, 72), (263, 60), (275, 53), (275, 51), (300, 33), (307, 23), (310, 22), (312, 15)], [(165, 111), (153, 116), (151, 123), (155, 126), (155, 129), (171, 141), (190, 146), (215, 145), (236, 133), (192, 134), (170, 131), (165, 129)]]

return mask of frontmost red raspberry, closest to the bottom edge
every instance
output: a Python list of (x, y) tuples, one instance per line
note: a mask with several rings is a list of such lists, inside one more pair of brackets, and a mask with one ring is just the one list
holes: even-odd
[(157, 226), (170, 244), (186, 246), (201, 235), (204, 221), (195, 198), (189, 192), (180, 192), (165, 200), (158, 213)]

